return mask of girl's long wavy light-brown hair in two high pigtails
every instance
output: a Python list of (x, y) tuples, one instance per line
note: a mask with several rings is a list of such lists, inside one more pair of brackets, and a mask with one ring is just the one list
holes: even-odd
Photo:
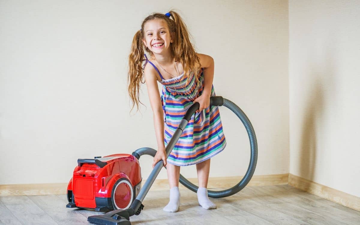
[(149, 49), (145, 49), (145, 45), (142, 40), (145, 37), (145, 23), (153, 19), (163, 19), (167, 23), (170, 33), (173, 34), (173, 42), (170, 44), (171, 54), (174, 56), (176, 61), (183, 65), (184, 76), (188, 82), (190, 81), (190, 76), (194, 75), (195, 82), (199, 86), (198, 72), (201, 69), (201, 65), (194, 46), (190, 42), (188, 29), (177, 12), (171, 10), (169, 13), (170, 17), (161, 13), (154, 13), (146, 17), (141, 23), (141, 30), (138, 30), (132, 39), (127, 77), (127, 82), (129, 84), (128, 91), (132, 101), (131, 110), (136, 105), (138, 111), (139, 103), (143, 104), (139, 100), (139, 90), (140, 85), (145, 82), (144, 69), (142, 66), (144, 60), (144, 50), (150, 55), (152, 55), (152, 52), (149, 51)]

